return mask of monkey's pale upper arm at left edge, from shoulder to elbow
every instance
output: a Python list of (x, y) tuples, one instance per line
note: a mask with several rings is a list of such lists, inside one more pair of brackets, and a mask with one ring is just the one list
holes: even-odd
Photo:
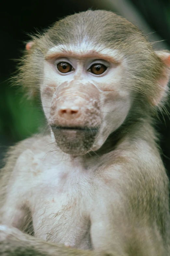
[[(25, 207), (25, 194), (28, 194), (26, 185), (24, 185), (25, 172), (31, 163), (32, 144), (38, 138), (32, 137), (19, 142), (17, 145), (10, 147), (6, 165), (0, 170), (0, 223), (24, 230), (24, 222), (28, 223), (29, 211)], [(26, 151), (28, 154), (24, 154)], [(25, 159), (27, 164), (25, 165)], [(31, 198), (31, 195), (29, 195)], [(32, 231), (32, 230), (30, 230)]]

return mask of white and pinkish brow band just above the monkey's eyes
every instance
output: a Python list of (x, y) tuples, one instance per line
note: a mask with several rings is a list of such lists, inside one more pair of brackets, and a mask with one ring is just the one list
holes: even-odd
[(119, 64), (122, 58), (118, 50), (106, 48), (105, 45), (94, 45), (88, 40), (77, 44), (60, 44), (51, 47), (45, 59), (50, 60), (60, 57), (104, 59), (115, 64)]

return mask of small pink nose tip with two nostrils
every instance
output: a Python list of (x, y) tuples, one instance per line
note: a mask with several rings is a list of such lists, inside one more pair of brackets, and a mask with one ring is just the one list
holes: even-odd
[(80, 108), (78, 106), (61, 106), (58, 109), (58, 114), (61, 117), (76, 118), (80, 115)]

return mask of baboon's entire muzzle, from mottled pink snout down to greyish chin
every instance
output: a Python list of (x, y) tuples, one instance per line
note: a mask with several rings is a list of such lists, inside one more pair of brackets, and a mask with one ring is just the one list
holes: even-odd
[(53, 94), (49, 122), (65, 153), (86, 153), (101, 125), (99, 91), (93, 84), (81, 81), (62, 83)]

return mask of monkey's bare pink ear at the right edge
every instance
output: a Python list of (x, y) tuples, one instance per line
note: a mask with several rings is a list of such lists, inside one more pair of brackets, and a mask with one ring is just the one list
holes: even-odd
[(156, 95), (151, 99), (151, 104), (157, 106), (164, 98), (167, 92), (167, 85), (170, 78), (170, 52), (169, 51), (155, 51), (159, 60), (163, 63), (163, 68), (160, 71), (160, 78), (158, 79), (158, 87)]

